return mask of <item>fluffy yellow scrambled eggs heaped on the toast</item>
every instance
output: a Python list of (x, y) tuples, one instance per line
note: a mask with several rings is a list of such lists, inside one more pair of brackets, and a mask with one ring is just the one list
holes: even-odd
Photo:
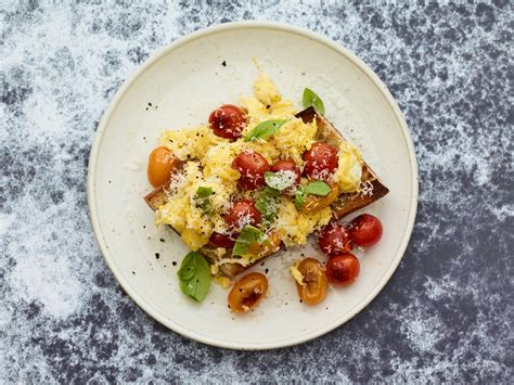
[[(255, 81), (254, 92), (254, 98), (241, 100), (247, 118), (244, 133), (266, 120), (287, 119), (279, 131), (266, 141), (245, 142), (240, 139), (230, 142), (214, 134), (208, 126), (166, 131), (160, 137), (159, 144), (168, 147), (178, 158), (187, 163), (184, 172), (170, 183), (168, 201), (159, 207), (156, 222), (170, 224), (193, 251), (206, 245), (213, 232), (227, 233), (228, 227), (223, 214), (230, 208), (234, 195), (248, 195), (248, 193), (237, 191), (236, 183), (240, 175), (231, 167), (233, 158), (240, 152), (252, 149), (260, 153), (270, 164), (279, 158), (288, 157), (301, 166), (304, 152), (316, 142), (318, 131), (316, 120), (305, 124), (301, 119), (294, 117), (296, 108), (293, 103), (282, 99), (278, 88), (268, 76), (260, 75)], [(339, 164), (333, 177), (334, 181), (340, 191), (358, 191), (362, 174), (359, 152), (345, 142), (339, 147), (338, 156)], [(205, 215), (197, 207), (195, 194), (200, 187), (213, 189), (210, 216)], [(281, 197), (278, 211), (279, 217), (273, 230), (286, 246), (305, 244), (311, 232), (319, 230), (331, 219), (330, 207), (306, 214), (298, 211), (293, 198), (285, 195)], [(220, 262), (227, 257), (229, 256), (224, 255), (224, 259), (221, 258)], [(229, 258), (227, 260), (247, 265), (249, 260), (246, 259)]]

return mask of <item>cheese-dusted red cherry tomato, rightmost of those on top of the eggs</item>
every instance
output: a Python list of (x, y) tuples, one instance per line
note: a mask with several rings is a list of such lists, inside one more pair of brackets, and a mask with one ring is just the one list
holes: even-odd
[(338, 165), (337, 149), (318, 142), (304, 153), (304, 172), (312, 179), (329, 180)]

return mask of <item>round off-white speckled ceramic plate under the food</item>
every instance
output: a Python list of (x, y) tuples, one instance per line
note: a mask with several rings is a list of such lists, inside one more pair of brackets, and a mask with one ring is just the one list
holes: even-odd
[[(327, 118), (361, 149), (390, 193), (365, 209), (382, 219), (385, 231), (378, 245), (358, 252), (361, 274), (355, 284), (331, 288), (317, 307), (300, 304), (288, 265), (300, 253), (322, 257), (316, 247), (292, 249), (254, 268), (269, 269), (268, 298), (255, 311), (235, 316), (227, 308), (228, 292), (216, 284), (202, 304), (180, 293), (176, 272), (188, 249), (168, 228), (153, 224), (154, 214), (142, 197), (151, 191), (146, 159), (159, 133), (206, 123), (213, 108), (252, 94), (258, 75), (253, 59), (284, 97), (297, 102), (298, 110), (304, 87), (314, 89), (324, 101)], [(266, 349), (320, 336), (349, 320), (378, 294), (411, 235), (417, 169), (396, 102), (362, 61), (307, 30), (232, 23), (177, 40), (125, 82), (97, 132), (89, 162), (88, 202), (108, 267), (143, 310), (169, 329), (206, 344)]]

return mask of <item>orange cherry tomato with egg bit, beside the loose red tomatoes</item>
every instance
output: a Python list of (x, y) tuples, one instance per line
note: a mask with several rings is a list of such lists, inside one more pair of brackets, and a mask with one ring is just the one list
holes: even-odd
[(298, 270), (304, 275), (303, 284), (296, 282), (298, 295), (308, 305), (316, 305), (326, 295), (329, 281), (321, 264), (313, 258), (306, 258), (298, 265)]

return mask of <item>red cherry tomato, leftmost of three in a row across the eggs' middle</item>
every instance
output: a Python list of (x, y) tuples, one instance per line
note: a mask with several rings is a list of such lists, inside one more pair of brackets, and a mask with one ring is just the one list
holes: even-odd
[(270, 165), (259, 153), (246, 150), (234, 157), (232, 168), (241, 174), (237, 184), (242, 190), (255, 190), (265, 185), (265, 172)]

